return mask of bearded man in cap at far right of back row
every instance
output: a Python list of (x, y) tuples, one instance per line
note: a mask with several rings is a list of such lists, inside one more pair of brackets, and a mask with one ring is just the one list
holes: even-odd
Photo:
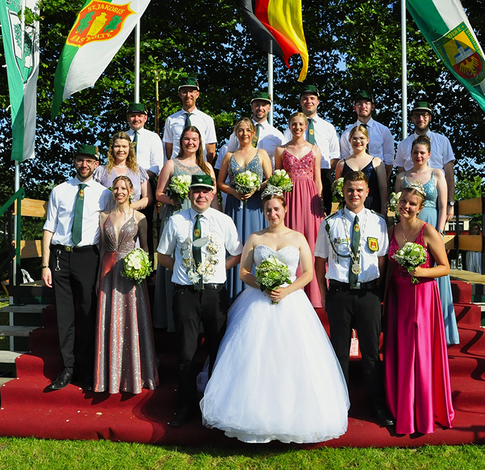
[(427, 135), (431, 141), (431, 157), (428, 165), (431, 168), (440, 168), (445, 172), (448, 187), (448, 204), (447, 204), (447, 221), (450, 221), (454, 214), (455, 205), (455, 174), (453, 172), (453, 161), (455, 155), (448, 137), (445, 135), (431, 132), (429, 124), (431, 123), (431, 105), (427, 101), (418, 101), (414, 103), (411, 111), (411, 120), (414, 124), (414, 133), (406, 137), (399, 146), (397, 146), (396, 161), (398, 173), (404, 170), (410, 170), (413, 167), (411, 158), (411, 148), (414, 140), (420, 135)]

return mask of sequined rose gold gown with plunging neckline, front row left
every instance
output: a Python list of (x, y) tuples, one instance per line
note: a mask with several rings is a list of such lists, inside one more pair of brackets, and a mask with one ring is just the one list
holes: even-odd
[(137, 238), (133, 216), (121, 227), (119, 240), (108, 216), (97, 302), (95, 392), (141, 393), (158, 385), (147, 284), (121, 276), (123, 258)]

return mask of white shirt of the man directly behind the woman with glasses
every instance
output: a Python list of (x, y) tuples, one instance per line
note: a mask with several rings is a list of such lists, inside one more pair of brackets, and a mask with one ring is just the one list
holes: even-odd
[[(352, 155), (352, 146), (348, 142), (348, 136), (351, 130), (362, 124), (359, 120), (348, 126), (344, 133), (340, 136), (340, 158), (350, 157)], [(366, 124), (367, 132), (369, 134), (369, 155), (372, 157), (379, 157), (385, 165), (394, 164), (394, 137), (392, 137), (389, 128), (370, 118)]]

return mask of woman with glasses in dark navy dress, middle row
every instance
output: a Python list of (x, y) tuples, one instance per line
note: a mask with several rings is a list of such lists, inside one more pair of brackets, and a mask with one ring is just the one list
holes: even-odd
[(335, 179), (344, 177), (351, 171), (362, 171), (369, 180), (369, 194), (365, 207), (386, 214), (388, 200), (386, 167), (379, 157), (372, 157), (367, 153), (369, 134), (366, 126), (359, 124), (352, 128), (348, 140), (351, 142), (353, 153), (338, 162), (335, 168)]

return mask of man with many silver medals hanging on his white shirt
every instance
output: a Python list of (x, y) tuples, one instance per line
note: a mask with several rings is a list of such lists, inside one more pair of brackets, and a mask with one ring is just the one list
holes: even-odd
[[(211, 208), (215, 181), (193, 175), (191, 208), (171, 216), (158, 245), (158, 262), (173, 271), (174, 322), (178, 353), (178, 412), (172, 426), (182, 426), (198, 410), (193, 361), (202, 320), (209, 344), (209, 374), (226, 331), (226, 270), (241, 259), (243, 246), (229, 216)], [(226, 250), (230, 257), (226, 259)], [(200, 276), (203, 271), (204, 276)]]

